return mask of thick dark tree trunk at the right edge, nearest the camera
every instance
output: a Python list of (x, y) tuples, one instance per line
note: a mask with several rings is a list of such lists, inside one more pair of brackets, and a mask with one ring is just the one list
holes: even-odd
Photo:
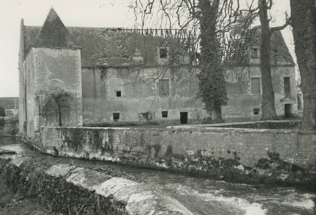
[(301, 130), (316, 130), (316, 3), (290, 0), (295, 54), (304, 98)]

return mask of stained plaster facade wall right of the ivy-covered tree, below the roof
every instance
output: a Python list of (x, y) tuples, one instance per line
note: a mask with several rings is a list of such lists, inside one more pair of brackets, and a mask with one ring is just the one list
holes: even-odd
[[(262, 84), (260, 68), (257, 65), (249, 67), (236, 67), (226, 71), (228, 105), (222, 108), (222, 117), (225, 121), (257, 121), (262, 114)], [(272, 85), (275, 96), (276, 114), (284, 116), (284, 104), (281, 99), (289, 96), (297, 99), (294, 66), (271, 66)], [(290, 77), (290, 93), (284, 93), (284, 77)], [(252, 94), (251, 78), (260, 78), (260, 94)], [(259, 108), (254, 114), (253, 109)], [(292, 114), (297, 116), (297, 102), (292, 105)]]

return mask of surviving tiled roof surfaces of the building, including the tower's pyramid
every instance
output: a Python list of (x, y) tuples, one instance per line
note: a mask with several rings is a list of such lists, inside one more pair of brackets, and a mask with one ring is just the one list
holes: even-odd
[[(65, 27), (54, 9), (50, 10), (42, 27), (24, 26), (23, 30), (24, 50), (27, 50), (29, 45), (82, 47), (82, 67), (134, 66), (132, 56), (136, 49), (143, 56), (145, 66), (155, 66), (157, 47), (161, 44), (168, 43), (171, 49), (180, 48), (175, 39), (137, 32), (113, 31), (110, 28)], [(72, 45), (75, 43), (77, 45)], [(274, 32), (271, 37), (270, 62), (272, 65), (295, 65), (280, 31)]]

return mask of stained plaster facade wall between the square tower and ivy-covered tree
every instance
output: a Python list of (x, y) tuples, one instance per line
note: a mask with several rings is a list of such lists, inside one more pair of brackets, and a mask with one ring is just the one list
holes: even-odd
[[(158, 83), (163, 68), (146, 67), (82, 67), (82, 108), (84, 124), (114, 121), (112, 114), (120, 113), (120, 121), (142, 121), (141, 113), (151, 112), (155, 121), (180, 122), (180, 112), (188, 112), (189, 123), (204, 116), (203, 104), (195, 99), (197, 89), (195, 70), (186, 82), (179, 84), (177, 73), (190, 67), (170, 68), (162, 79), (169, 79), (169, 96), (159, 96)], [(158, 74), (157, 74), (158, 73)], [(155, 79), (156, 78), (156, 79)], [(121, 91), (121, 96), (116, 96)], [(162, 118), (161, 111), (168, 111)]]

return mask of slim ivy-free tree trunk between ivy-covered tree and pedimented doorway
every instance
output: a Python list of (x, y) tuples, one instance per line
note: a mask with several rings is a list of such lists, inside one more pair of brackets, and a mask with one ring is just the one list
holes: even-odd
[(261, 120), (277, 120), (274, 107), (274, 91), (272, 87), (270, 67), (270, 38), (272, 32), (269, 27), (268, 7), (266, 0), (259, 0), (259, 17), (261, 22), (261, 83), (262, 83), (262, 117)]

